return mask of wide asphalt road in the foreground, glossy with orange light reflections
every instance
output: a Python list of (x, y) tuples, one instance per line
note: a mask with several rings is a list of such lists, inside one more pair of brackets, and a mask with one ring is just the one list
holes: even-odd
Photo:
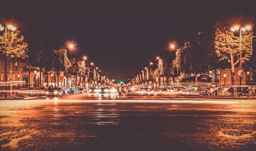
[(0, 150), (256, 150), (256, 100), (0, 100)]

